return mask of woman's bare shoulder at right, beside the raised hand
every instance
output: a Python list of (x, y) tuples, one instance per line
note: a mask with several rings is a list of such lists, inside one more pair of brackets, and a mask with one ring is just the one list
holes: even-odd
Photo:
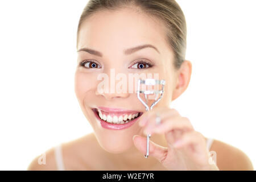
[(221, 171), (253, 171), (249, 157), (237, 147), (220, 140), (213, 140), (210, 151), (216, 152), (216, 163)]

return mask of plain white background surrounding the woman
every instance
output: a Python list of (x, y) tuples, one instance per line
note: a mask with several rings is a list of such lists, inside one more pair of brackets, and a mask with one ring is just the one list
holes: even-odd
[[(255, 1), (178, 0), (187, 19), (188, 89), (172, 103), (205, 137), (256, 166)], [(93, 130), (74, 90), (76, 31), (87, 1), (0, 1), (0, 169), (26, 170)]]

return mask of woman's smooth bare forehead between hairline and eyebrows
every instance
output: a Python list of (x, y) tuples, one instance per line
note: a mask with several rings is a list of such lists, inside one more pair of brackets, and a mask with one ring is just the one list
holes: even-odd
[(152, 44), (160, 52), (166, 46), (163, 22), (130, 9), (99, 11), (82, 23), (77, 48), (89, 47), (105, 52)]

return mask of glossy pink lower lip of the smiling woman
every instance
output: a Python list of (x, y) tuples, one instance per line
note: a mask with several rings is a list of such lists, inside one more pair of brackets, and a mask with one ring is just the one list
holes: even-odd
[(97, 114), (96, 111), (93, 110), (93, 113), (95, 114), (97, 120), (100, 121), (101, 126), (104, 127), (105, 129), (109, 129), (109, 130), (123, 130), (123, 129), (127, 129), (127, 128), (129, 128), (131, 125), (133, 125), (133, 124), (138, 120), (139, 117), (141, 117), (141, 116), (139, 116), (139, 117), (133, 119), (133, 121), (130, 121), (130, 122), (124, 123), (124, 124), (111, 124), (111, 123), (108, 123), (108, 122), (102, 120), (102, 119), (98, 116), (98, 114)]

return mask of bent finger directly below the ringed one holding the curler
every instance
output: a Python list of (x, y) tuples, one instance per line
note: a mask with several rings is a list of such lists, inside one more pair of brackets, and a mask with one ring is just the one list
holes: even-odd
[(164, 119), (160, 125), (148, 131), (149, 133), (166, 133), (171, 130), (184, 130), (190, 131), (194, 130), (191, 122), (187, 117), (172, 117)]

